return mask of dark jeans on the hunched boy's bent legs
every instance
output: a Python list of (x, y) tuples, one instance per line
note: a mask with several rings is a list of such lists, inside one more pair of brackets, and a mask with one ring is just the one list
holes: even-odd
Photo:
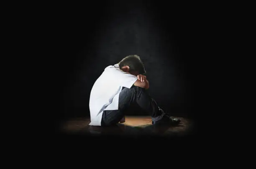
[(145, 89), (136, 86), (131, 87), (131, 89), (123, 87), (119, 94), (118, 110), (103, 111), (102, 126), (117, 124), (125, 115), (125, 109), (133, 102), (137, 102), (143, 110), (148, 112), (152, 117), (152, 121), (158, 121), (162, 118), (162, 109), (157, 106), (156, 101), (149, 96)]

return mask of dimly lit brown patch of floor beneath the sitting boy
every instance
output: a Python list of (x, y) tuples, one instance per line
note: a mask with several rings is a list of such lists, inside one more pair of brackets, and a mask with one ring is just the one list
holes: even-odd
[(177, 117), (181, 123), (176, 127), (154, 127), (151, 124), (150, 116), (126, 116), (125, 123), (115, 127), (89, 126), (90, 119), (77, 118), (61, 123), (60, 130), (65, 134), (160, 134), (160, 135), (183, 135), (189, 133), (193, 127), (193, 122), (189, 119)]

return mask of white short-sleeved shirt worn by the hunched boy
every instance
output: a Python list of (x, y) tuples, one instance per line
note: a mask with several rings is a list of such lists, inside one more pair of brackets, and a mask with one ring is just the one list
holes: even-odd
[(118, 110), (119, 93), (131, 88), (138, 78), (120, 70), (119, 65), (108, 66), (94, 83), (90, 94), (91, 126), (101, 126), (103, 110)]

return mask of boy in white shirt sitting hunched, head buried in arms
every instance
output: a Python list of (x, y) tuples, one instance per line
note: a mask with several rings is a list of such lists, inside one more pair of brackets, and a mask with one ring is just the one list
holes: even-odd
[(132, 102), (152, 117), (153, 125), (179, 124), (180, 120), (170, 117), (151, 98), (147, 89), (149, 82), (143, 63), (138, 55), (129, 55), (118, 64), (105, 68), (96, 80), (90, 93), (90, 116), (92, 126), (115, 125), (125, 116), (124, 110)]

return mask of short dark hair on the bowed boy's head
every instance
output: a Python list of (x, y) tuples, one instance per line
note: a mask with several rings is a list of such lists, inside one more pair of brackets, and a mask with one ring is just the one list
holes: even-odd
[(138, 71), (139, 74), (145, 74), (146, 70), (138, 55), (128, 55), (118, 63), (119, 67), (129, 66), (130, 71)]

